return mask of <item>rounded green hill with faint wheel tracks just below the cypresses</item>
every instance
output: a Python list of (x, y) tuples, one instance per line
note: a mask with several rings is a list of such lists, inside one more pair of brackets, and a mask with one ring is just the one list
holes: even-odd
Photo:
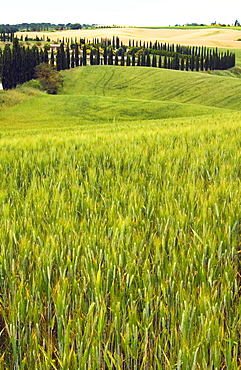
[(97, 95), (240, 110), (239, 79), (158, 68), (103, 66), (74, 69), (65, 74), (63, 93)]

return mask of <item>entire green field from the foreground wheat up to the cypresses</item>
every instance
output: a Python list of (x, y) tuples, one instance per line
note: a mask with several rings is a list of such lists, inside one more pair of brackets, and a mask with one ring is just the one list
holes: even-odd
[(0, 92), (0, 369), (240, 369), (241, 81)]

